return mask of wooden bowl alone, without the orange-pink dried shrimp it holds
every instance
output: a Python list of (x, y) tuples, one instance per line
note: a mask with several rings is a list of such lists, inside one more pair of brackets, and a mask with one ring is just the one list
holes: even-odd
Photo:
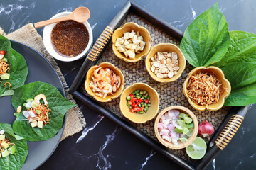
[[(113, 72), (115, 74), (117, 74), (117, 76), (119, 76), (121, 78), (121, 86), (119, 87), (119, 89), (113, 94), (113, 95), (107, 95), (105, 98), (101, 98), (99, 96), (95, 96), (95, 93), (92, 91), (92, 89), (90, 88), (89, 84), (90, 81), (92, 80), (92, 75), (95, 69), (102, 67), (104, 68), (110, 68), (113, 70)], [(122, 91), (124, 89), (124, 75), (122, 74), (121, 70), (118, 69), (117, 67), (115, 67), (113, 64), (111, 64), (110, 62), (102, 62), (99, 65), (95, 65), (93, 67), (91, 67), (87, 74), (86, 74), (86, 80), (85, 80), (85, 90), (87, 91), (87, 93), (92, 96), (93, 98), (95, 98), (95, 100), (100, 101), (100, 102), (107, 102), (107, 101), (111, 101), (114, 98), (118, 98), (120, 96), (120, 94), (122, 94)]]

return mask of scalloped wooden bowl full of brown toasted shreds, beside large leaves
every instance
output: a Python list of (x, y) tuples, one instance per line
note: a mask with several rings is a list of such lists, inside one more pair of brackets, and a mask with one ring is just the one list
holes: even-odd
[(183, 93), (198, 111), (222, 108), (231, 91), (230, 82), (218, 67), (196, 67), (183, 84)]

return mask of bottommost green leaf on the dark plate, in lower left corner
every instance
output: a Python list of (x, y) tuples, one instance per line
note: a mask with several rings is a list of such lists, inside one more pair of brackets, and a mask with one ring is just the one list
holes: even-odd
[(24, 140), (22, 137), (14, 135), (10, 124), (0, 123), (0, 130), (5, 131), (5, 135), (11, 139), (10, 142), (14, 143), (16, 147), (16, 152), (14, 154), (9, 154), (8, 157), (0, 158), (0, 170), (21, 169), (28, 155), (28, 146), (26, 140)]

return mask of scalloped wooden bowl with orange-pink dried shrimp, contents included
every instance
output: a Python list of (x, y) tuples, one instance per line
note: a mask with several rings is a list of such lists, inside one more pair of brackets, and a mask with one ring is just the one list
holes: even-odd
[(85, 90), (97, 101), (111, 101), (119, 97), (123, 89), (124, 75), (109, 62), (91, 67), (86, 74)]

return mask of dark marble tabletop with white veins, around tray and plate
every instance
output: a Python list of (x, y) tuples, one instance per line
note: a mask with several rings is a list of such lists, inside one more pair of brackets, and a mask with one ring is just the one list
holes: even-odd
[[(55, 13), (86, 6), (91, 11), (89, 23), (94, 40), (122, 8), (124, 0), (1, 0), (0, 26), (6, 33), (26, 23), (43, 21)], [(227, 19), (229, 30), (256, 33), (256, 4), (253, 0), (137, 0), (144, 8), (184, 31), (198, 15), (215, 2)], [(38, 33), (42, 35), (43, 29)], [(83, 59), (84, 60), (84, 59)], [(71, 85), (83, 60), (58, 62), (68, 85)], [(181, 169), (144, 142), (117, 127), (112, 121), (79, 103), (85, 115), (85, 130), (68, 137), (38, 169)], [(220, 152), (207, 169), (256, 169), (255, 108), (245, 116), (228, 147)]]

